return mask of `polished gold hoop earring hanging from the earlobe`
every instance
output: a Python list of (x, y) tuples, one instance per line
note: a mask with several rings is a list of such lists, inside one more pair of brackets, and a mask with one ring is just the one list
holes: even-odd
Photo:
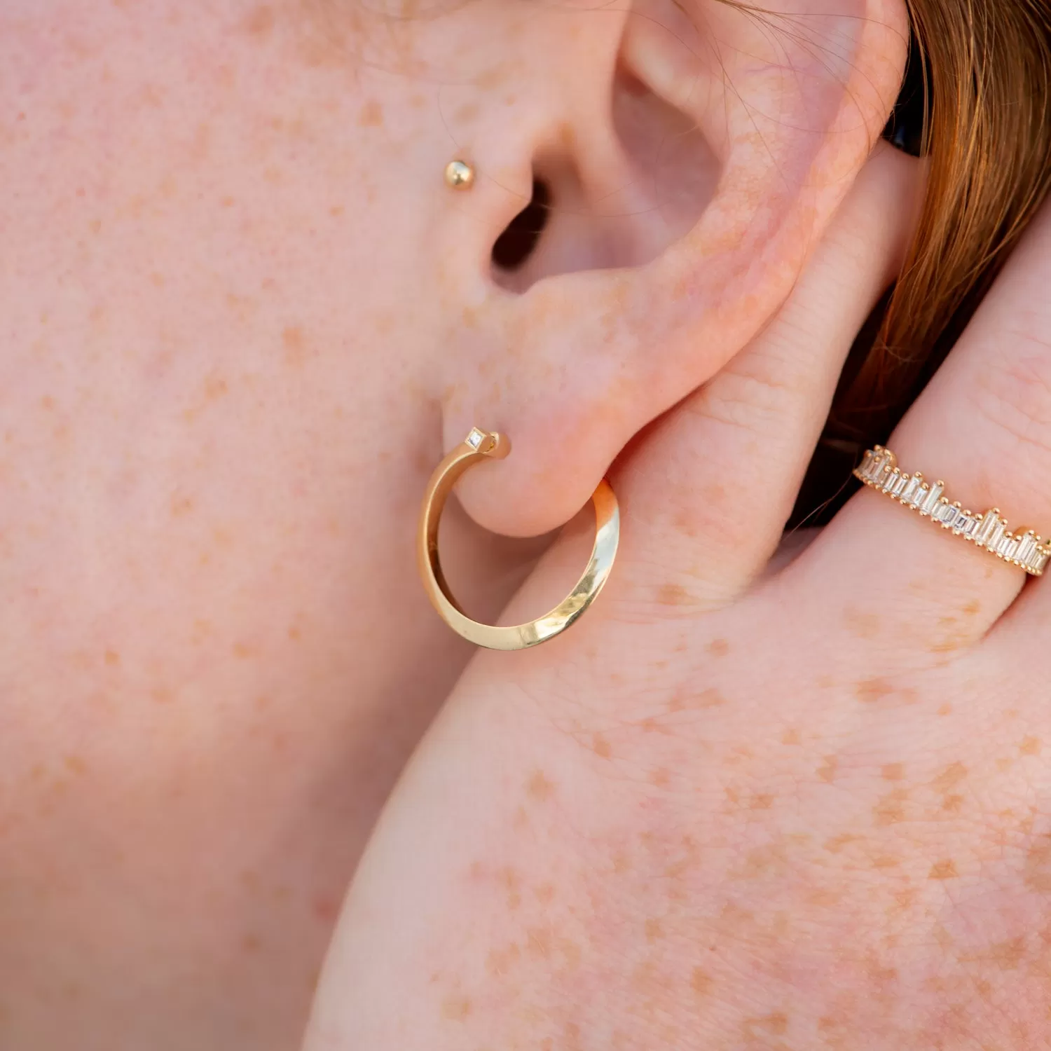
[(441, 572), (438, 523), (446, 500), (457, 480), (475, 465), (487, 459), (503, 459), (510, 452), (511, 442), (506, 435), (489, 434), (474, 428), (431, 475), (419, 516), (416, 554), (419, 575), (431, 604), (454, 632), (487, 650), (529, 650), (561, 635), (583, 616), (605, 586), (620, 541), (620, 508), (610, 483), (603, 478), (592, 496), (595, 504), (595, 545), (592, 557), (583, 576), (569, 596), (547, 616), (515, 627), (496, 627), (471, 620), (452, 597)]

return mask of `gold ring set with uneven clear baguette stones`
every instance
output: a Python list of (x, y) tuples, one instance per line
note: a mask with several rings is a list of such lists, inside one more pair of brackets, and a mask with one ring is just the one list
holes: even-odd
[(1019, 528), (1010, 532), (1007, 519), (1001, 517), (998, 508), (975, 515), (964, 510), (959, 501), (950, 503), (945, 495), (944, 481), (935, 481), (931, 486), (923, 480), (922, 474), (905, 474), (898, 467), (898, 457), (889, 449), (883, 446), (870, 449), (853, 473), (870, 489), (919, 511), (921, 517), (930, 518), (942, 529), (952, 530), (955, 536), (970, 540), (1031, 576), (1044, 575), (1051, 559), (1051, 547), (1045, 544), (1033, 530)]

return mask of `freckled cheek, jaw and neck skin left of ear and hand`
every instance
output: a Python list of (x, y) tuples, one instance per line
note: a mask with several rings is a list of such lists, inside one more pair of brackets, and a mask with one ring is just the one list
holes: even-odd
[[(411, 554), (465, 371), (449, 248), (489, 248), (435, 84), (513, 70), (472, 18), (356, 7), (0, 12), (4, 1048), (296, 1046), (467, 660)], [(495, 617), (543, 543), (447, 522)]]

